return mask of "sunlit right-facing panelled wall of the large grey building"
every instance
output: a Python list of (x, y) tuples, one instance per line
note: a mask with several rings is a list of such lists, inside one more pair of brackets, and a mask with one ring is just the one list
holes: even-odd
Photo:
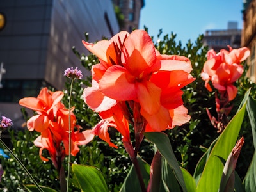
[(119, 26), (111, 0), (54, 0), (44, 79), (47, 82), (54, 82), (56, 88), (62, 88), (65, 81), (64, 70), (76, 66), (81, 68), (72, 47), (75, 46), (81, 53), (88, 53), (81, 43), (84, 40), (84, 33), (88, 32), (90, 42), (95, 42), (101, 40), (102, 36), (111, 38), (118, 31)]

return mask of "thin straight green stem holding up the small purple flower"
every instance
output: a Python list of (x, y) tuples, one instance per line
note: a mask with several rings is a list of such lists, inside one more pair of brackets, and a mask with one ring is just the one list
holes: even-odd
[(73, 81), (74, 79), (71, 79), (71, 85), (70, 85), (70, 93), (69, 93), (69, 104), (68, 104), (68, 110), (69, 110), (69, 119), (68, 119), (68, 177), (67, 177), (67, 192), (68, 192), (68, 186), (69, 186), (69, 178), (70, 178), (70, 161), (71, 161), (71, 95), (72, 95), (72, 87), (73, 87)]

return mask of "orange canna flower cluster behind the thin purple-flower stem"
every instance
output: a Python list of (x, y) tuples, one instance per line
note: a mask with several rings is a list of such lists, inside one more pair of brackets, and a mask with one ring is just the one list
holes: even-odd
[[(43, 88), (38, 97), (25, 97), (19, 101), (21, 106), (36, 111), (37, 115), (32, 116), (27, 122), (28, 130), (41, 133), (34, 141), (35, 145), (40, 147), (40, 157), (43, 161), (48, 161), (42, 156), (42, 150), (47, 149), (56, 167), (58, 167), (60, 159), (62, 161), (65, 154), (68, 154), (69, 111), (61, 103), (63, 95), (61, 91), (51, 92), (47, 88)], [(71, 154), (76, 156), (79, 152), (77, 145), (90, 142), (93, 135), (90, 134), (90, 131), (79, 132), (79, 129), (75, 131), (74, 127), (79, 128), (79, 125), (76, 125), (74, 113), (71, 113), (70, 118), (72, 128)]]

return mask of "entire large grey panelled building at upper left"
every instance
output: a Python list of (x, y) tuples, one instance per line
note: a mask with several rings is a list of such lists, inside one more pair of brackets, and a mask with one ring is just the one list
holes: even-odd
[(18, 125), (19, 99), (36, 97), (43, 86), (62, 90), (64, 70), (81, 68), (72, 47), (88, 53), (85, 32), (95, 42), (119, 31), (111, 0), (1, 0), (0, 115)]

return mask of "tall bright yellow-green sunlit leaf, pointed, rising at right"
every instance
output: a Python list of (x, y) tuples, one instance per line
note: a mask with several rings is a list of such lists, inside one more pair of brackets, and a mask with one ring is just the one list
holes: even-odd
[(232, 120), (230, 120), (227, 127), (220, 134), (218, 141), (216, 141), (216, 144), (212, 148), (211, 154), (209, 155), (209, 158), (205, 164), (204, 171), (202, 172), (200, 180), (198, 181), (198, 192), (218, 191), (223, 172), (223, 164), (221, 163), (220, 159), (218, 159), (218, 156), (226, 161), (232, 148), (236, 144), (237, 136), (243, 122), (246, 101), (248, 100), (249, 93), (250, 90), (248, 90), (244, 96), (241, 109), (239, 109)]

